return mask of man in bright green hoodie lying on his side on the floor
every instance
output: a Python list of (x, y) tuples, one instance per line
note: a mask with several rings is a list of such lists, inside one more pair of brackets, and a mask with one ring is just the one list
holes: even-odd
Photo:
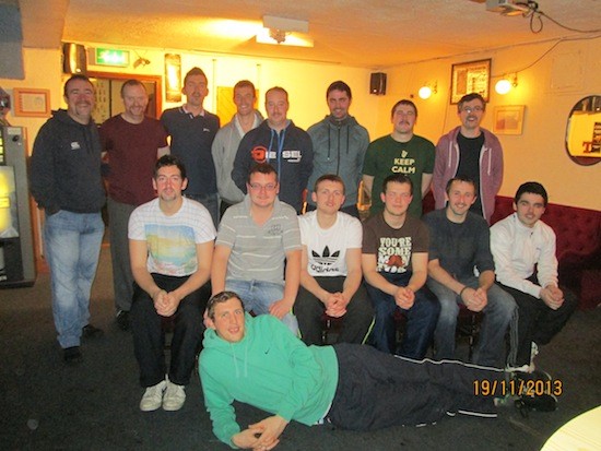
[[(233, 292), (216, 294), (207, 309), (204, 403), (213, 432), (232, 448), (271, 450), (292, 419), (373, 430), (457, 413), (496, 417), (493, 397), (475, 396), (474, 381), (500, 382), (500, 369), (412, 360), (357, 344), (306, 346), (276, 318), (245, 313)], [(234, 401), (273, 416), (240, 430)]]

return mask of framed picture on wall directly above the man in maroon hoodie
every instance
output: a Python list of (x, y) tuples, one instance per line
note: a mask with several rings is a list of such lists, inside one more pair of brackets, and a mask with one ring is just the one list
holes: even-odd
[(478, 93), (488, 102), (491, 88), (491, 61), (461, 62), (451, 67), (451, 95), (450, 103), (457, 104), (466, 94)]

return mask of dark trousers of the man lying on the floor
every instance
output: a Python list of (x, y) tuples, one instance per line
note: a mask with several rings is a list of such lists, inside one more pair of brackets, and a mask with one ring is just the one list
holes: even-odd
[(456, 413), (496, 417), (493, 396), (475, 396), (474, 384), (505, 380), (500, 369), (456, 360), (413, 360), (366, 345), (333, 348), (339, 382), (327, 418), (337, 427), (374, 430), (432, 424)]

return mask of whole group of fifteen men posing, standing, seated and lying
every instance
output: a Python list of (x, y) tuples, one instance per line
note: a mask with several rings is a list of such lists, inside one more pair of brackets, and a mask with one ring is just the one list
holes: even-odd
[[(184, 404), (209, 293), (200, 359), (205, 402), (217, 437), (251, 449), (273, 448), (291, 419), (314, 424), (328, 418), (358, 429), (435, 420), (427, 412), (440, 390), (463, 393), (446, 397), (448, 412), (471, 405), (471, 385), (438, 379), (455, 371), (473, 381), (475, 370), (464, 365), (414, 368), (413, 360), (361, 346), (310, 346), (323, 345), (323, 314), (341, 318), (338, 343), (368, 342), (388, 355), (423, 359), (434, 342), (434, 358), (447, 360), (455, 355), (463, 306), (484, 313), (473, 363), (528, 371), (538, 345), (549, 343), (574, 310), (575, 300), (558, 287), (555, 236), (540, 221), (547, 203), (540, 183), (522, 185), (516, 213), (488, 228), (503, 153), (498, 139), (480, 127), (485, 102), (479, 94), (459, 102), (461, 124), (435, 147), (413, 133), (417, 109), (411, 100), (393, 106), (391, 134), (369, 143), (366, 129), (349, 115), (351, 88), (341, 81), (327, 90), (330, 115), (306, 132), (287, 118), (288, 95), (282, 87), (266, 93), (263, 120), (252, 83), (237, 83), (237, 112), (223, 128), (203, 108), (208, 80), (201, 69), (186, 74), (182, 93), (182, 106), (151, 119), (144, 85), (130, 80), (121, 88), (125, 111), (98, 132), (92, 120), (94, 86), (84, 75), (73, 75), (64, 85), (67, 110), (56, 111), (40, 129), (32, 156), (32, 193), (46, 213), (52, 313), (69, 364), (82, 359), (82, 336), (103, 333), (89, 322), (89, 302), (104, 233), (103, 176), (106, 180), (117, 323), (132, 330), (146, 389), (142, 411), (176, 411)], [(357, 210), (362, 180), (372, 198), (370, 217), (363, 224)], [(421, 218), (431, 187), (438, 210)], [(297, 216), (305, 200), (307, 212)], [(406, 318), (399, 348), (397, 311)], [(174, 318), (168, 369), (164, 317)], [(286, 328), (263, 317), (275, 317), (290, 330), (281, 344)], [(516, 346), (506, 359), (510, 322)], [(271, 333), (278, 339), (269, 339)], [(276, 348), (272, 357), (259, 355), (270, 346)], [(244, 354), (255, 351), (257, 356)], [(224, 369), (211, 363), (224, 352), (236, 366), (225, 378)], [(283, 393), (256, 397), (249, 384), (258, 383), (257, 375), (248, 372), (261, 358), (290, 366), (279, 376), (283, 387), (264, 388)], [(364, 370), (355, 359), (365, 367), (381, 360), (386, 370), (339, 380), (338, 371)], [(297, 365), (300, 371), (310, 367), (300, 382), (308, 391), (293, 393)], [(396, 400), (392, 392), (408, 383), (391, 378), (397, 370), (433, 381), (423, 416), (403, 416), (405, 403), (397, 403), (393, 412), (401, 414), (396, 419), (389, 414), (381, 420), (357, 417), (350, 411), (347, 391), (373, 378), (388, 378), (389, 402)], [(314, 371), (321, 376), (310, 376)], [(315, 377), (325, 379), (308, 387)], [(343, 382), (347, 385), (341, 388)], [(309, 403), (306, 396), (317, 397)], [(275, 416), (240, 432), (232, 423), (232, 399)], [(374, 408), (366, 415), (382, 415), (381, 406)]]

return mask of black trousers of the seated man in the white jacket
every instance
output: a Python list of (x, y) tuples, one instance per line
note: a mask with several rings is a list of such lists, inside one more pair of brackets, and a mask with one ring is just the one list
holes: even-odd
[[(535, 280), (531, 280), (531, 282), (537, 283)], [(515, 361), (508, 361), (508, 364), (511, 367), (530, 365), (532, 342), (538, 345), (551, 342), (574, 313), (578, 301), (571, 292), (562, 288), (564, 304), (557, 310), (553, 310), (542, 299), (537, 299), (528, 293), (498, 285), (509, 293), (518, 305), (517, 351)]]

